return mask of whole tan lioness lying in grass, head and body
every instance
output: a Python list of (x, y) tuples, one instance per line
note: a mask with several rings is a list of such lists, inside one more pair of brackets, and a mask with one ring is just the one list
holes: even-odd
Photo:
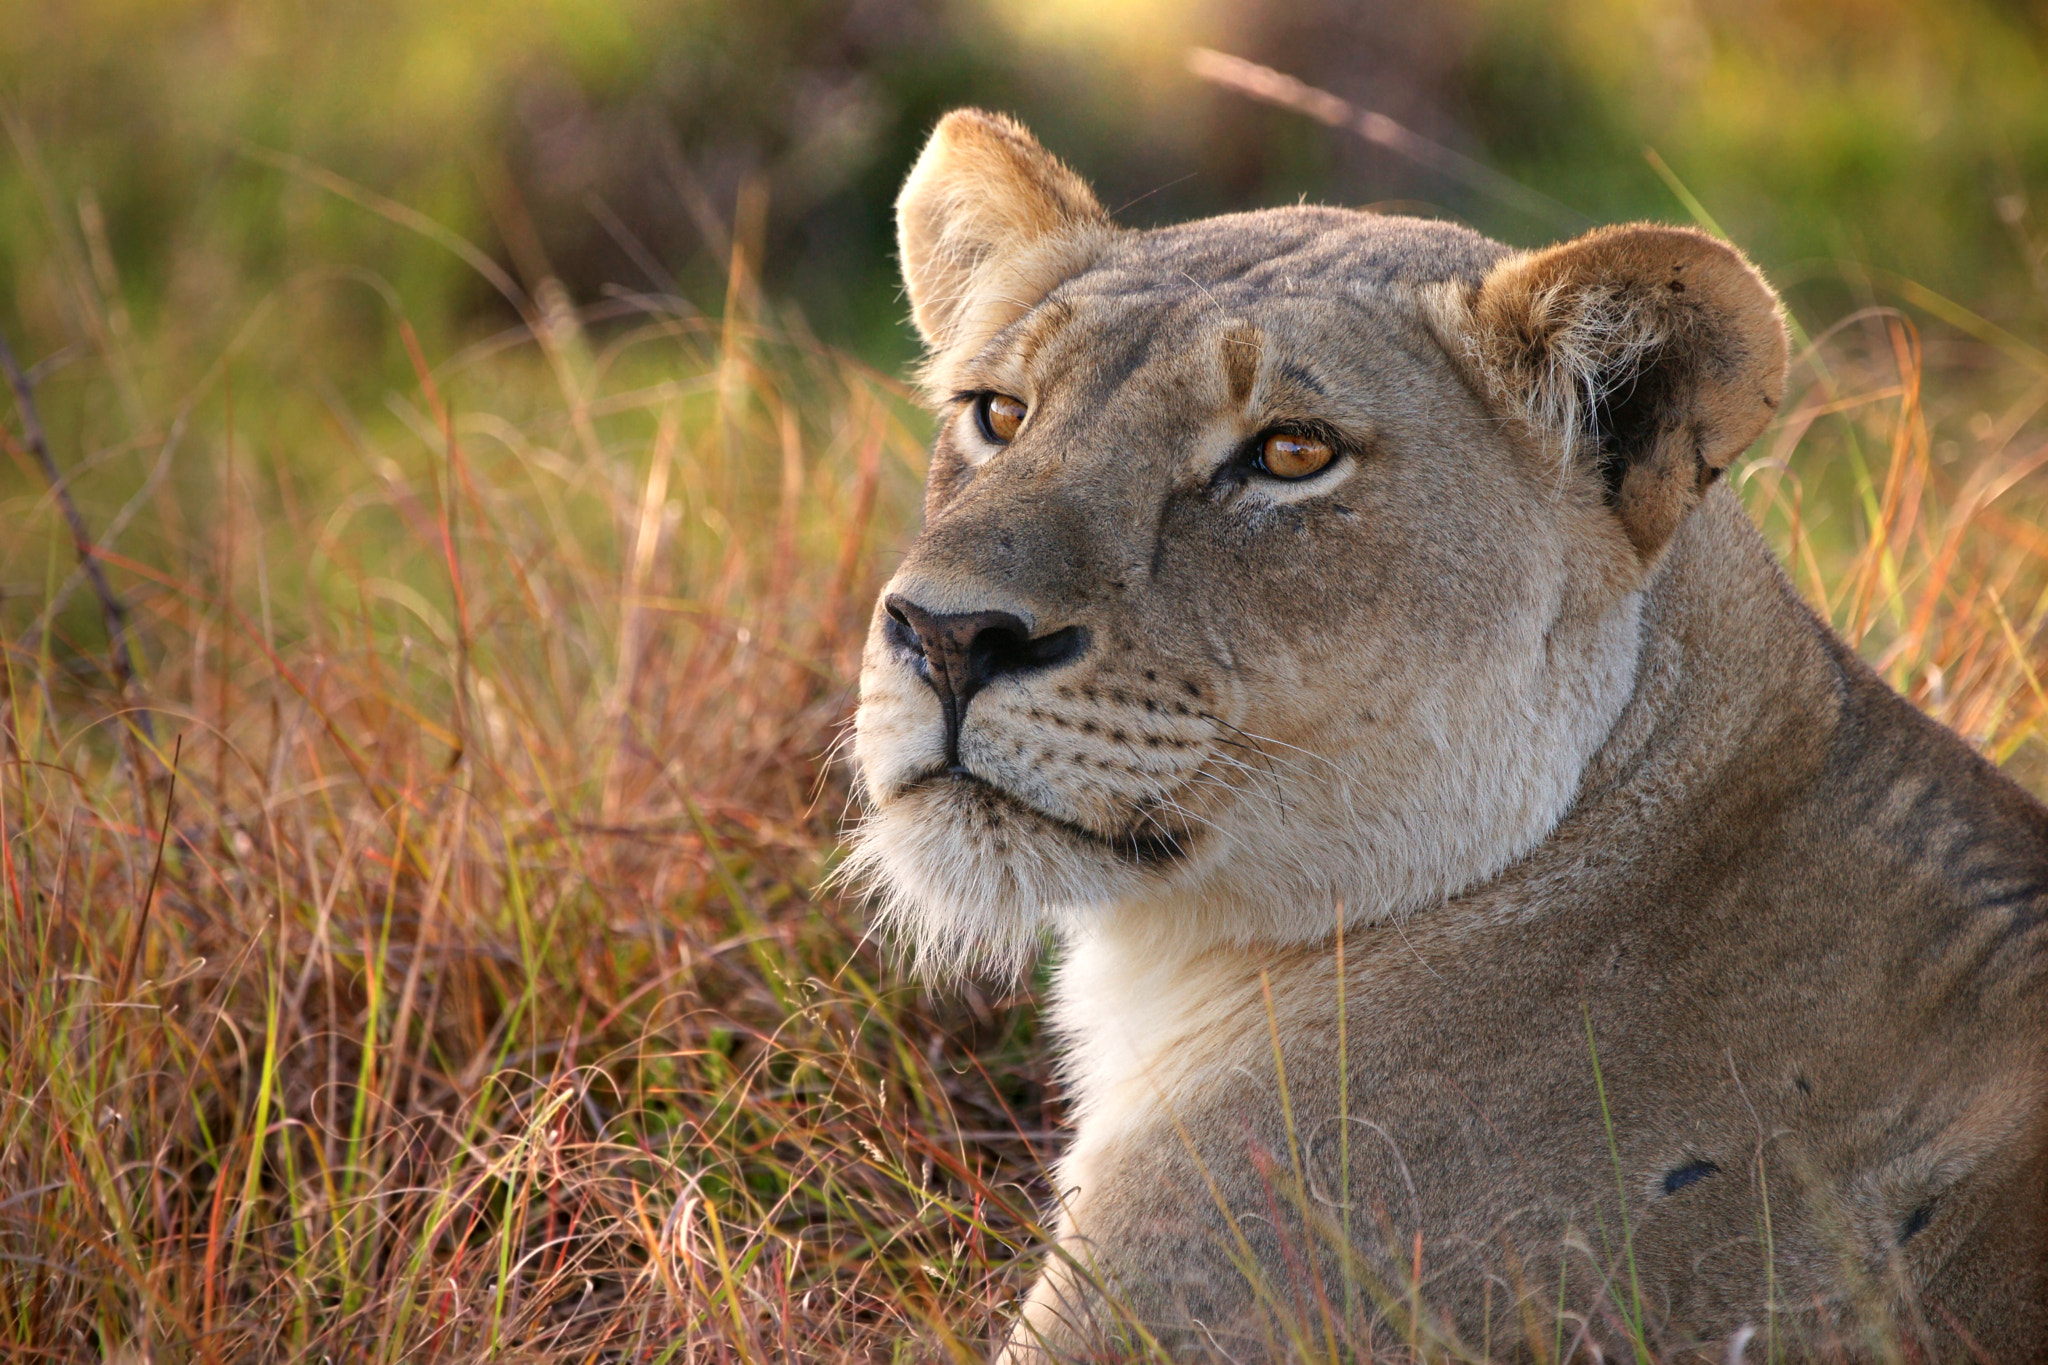
[(940, 970), (1059, 937), (1012, 1359), (2048, 1359), (2048, 812), (1720, 485), (1735, 250), (1124, 231), (977, 111), (897, 213), (854, 866)]

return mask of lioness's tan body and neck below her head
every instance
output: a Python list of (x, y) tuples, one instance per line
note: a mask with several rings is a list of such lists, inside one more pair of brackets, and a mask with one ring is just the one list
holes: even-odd
[[(1069, 948), (1055, 1019), (1096, 1064), (1065, 1230), (1171, 1355), (1319, 1347), (1346, 1224), (1393, 1340), (1548, 1347), (1563, 1306), (1567, 1345), (1591, 1314), (1626, 1355), (1640, 1302), (1659, 1359), (1726, 1359), (1745, 1326), (1755, 1359), (1772, 1330), (1792, 1359), (1894, 1330), (1970, 1359), (1952, 1322), (1995, 1361), (2048, 1349), (2048, 817), (1845, 655), (1729, 497), (1645, 636), (1616, 745), (1538, 849), (1346, 933), (1341, 1033), (1331, 943)], [(1194, 988), (1133, 1029), (1159, 978)], [(1090, 1340), (1087, 1297), (1055, 1269), (1034, 1326)]]

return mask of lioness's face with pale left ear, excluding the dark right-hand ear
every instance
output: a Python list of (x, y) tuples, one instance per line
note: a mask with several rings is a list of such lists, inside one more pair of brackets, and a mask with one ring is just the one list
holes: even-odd
[[(1104, 917), (1300, 939), (1532, 847), (1651, 563), (1462, 360), (1507, 252), (1329, 209), (1114, 233), (987, 123), (901, 205), (942, 430), (860, 677), (885, 917), (946, 966)], [(963, 174), (1024, 227), (922, 219)]]

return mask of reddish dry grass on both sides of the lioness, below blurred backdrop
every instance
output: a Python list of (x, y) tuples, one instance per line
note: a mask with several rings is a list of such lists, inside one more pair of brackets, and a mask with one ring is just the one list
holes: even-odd
[[(393, 311), (418, 368), (381, 411), (264, 362), (287, 301), (59, 450), (111, 489), (127, 698), (53, 499), (14, 485), (8, 1355), (969, 1359), (999, 1330), (1057, 1124), (1030, 1001), (920, 995), (817, 890), (922, 424), (741, 276), (723, 317), (555, 299), (446, 358)], [(1839, 323), (1741, 489), (1866, 655), (2040, 790), (2048, 356), (1942, 336)], [(150, 360), (109, 325), (45, 393)], [(174, 434), (182, 483), (152, 483)]]

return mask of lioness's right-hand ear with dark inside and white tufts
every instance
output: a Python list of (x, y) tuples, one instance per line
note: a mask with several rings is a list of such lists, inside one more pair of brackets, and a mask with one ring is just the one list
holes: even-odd
[(1602, 227), (1438, 303), (1493, 401), (1599, 479), (1645, 561), (1784, 397), (1778, 297), (1700, 231)]

